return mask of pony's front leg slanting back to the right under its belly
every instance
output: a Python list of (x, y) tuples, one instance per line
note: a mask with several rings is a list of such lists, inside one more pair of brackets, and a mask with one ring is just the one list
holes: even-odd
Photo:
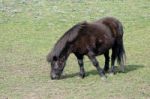
[(96, 67), (96, 69), (97, 69), (99, 75), (102, 77), (102, 79), (103, 78), (105, 79), (106, 78), (105, 73), (104, 73), (103, 69), (100, 68), (99, 62), (97, 61), (97, 59), (96, 59), (95, 55), (93, 54), (93, 52), (89, 52), (88, 57), (92, 61), (93, 65)]

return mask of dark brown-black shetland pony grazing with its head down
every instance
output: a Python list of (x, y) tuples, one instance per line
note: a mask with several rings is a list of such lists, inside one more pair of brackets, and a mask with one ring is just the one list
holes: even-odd
[[(95, 22), (81, 22), (69, 29), (47, 55), (51, 63), (51, 79), (59, 79), (70, 53), (74, 53), (80, 66), (80, 76), (85, 77), (83, 58), (87, 55), (96, 67), (99, 75), (105, 78), (109, 70), (109, 50), (111, 55), (111, 73), (115, 73), (114, 64), (124, 72), (125, 50), (123, 46), (123, 26), (113, 17), (105, 17)], [(104, 54), (104, 70), (100, 68), (96, 56)]]

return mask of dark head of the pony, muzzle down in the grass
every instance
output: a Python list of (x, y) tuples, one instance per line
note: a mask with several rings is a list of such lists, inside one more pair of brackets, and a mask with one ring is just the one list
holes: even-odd
[(50, 71), (51, 79), (59, 79), (65, 67), (65, 63), (66, 63), (65, 58), (52, 56), (51, 59), (47, 57), (47, 61), (50, 62), (51, 64), (51, 71)]

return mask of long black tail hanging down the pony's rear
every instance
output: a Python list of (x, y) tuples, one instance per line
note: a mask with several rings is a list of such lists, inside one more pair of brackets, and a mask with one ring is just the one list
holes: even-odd
[(117, 62), (121, 67), (122, 72), (124, 72), (124, 65), (126, 61), (126, 54), (123, 44), (123, 26), (120, 23), (117, 29), (118, 37), (116, 38), (114, 50), (116, 52)]

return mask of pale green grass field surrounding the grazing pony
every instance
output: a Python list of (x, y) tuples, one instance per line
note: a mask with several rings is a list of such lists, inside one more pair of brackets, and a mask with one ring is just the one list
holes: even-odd
[[(51, 80), (46, 55), (59, 37), (104, 16), (124, 24), (125, 73), (103, 81), (86, 57), (80, 79), (71, 55), (67, 78)], [(150, 1), (0, 0), (0, 99), (150, 99)]]

